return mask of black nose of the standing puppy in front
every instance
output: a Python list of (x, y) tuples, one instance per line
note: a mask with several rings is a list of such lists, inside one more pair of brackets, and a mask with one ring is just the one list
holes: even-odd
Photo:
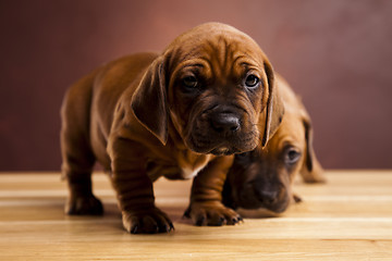
[(233, 113), (217, 113), (210, 119), (212, 128), (220, 134), (231, 134), (240, 129), (240, 119)]

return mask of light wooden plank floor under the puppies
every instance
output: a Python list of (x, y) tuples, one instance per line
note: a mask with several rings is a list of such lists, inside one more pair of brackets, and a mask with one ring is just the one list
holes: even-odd
[(297, 183), (304, 202), (280, 217), (225, 227), (183, 220), (189, 183), (161, 179), (157, 204), (175, 231), (130, 235), (102, 174), (94, 182), (106, 214), (71, 217), (60, 174), (0, 173), (0, 260), (392, 260), (392, 171), (327, 177), (327, 185)]

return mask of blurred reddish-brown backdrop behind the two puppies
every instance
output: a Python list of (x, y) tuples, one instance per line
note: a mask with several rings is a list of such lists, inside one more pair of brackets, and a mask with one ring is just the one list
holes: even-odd
[(392, 167), (390, 0), (0, 0), (0, 171), (59, 170), (70, 84), (211, 21), (249, 34), (303, 97), (324, 167)]

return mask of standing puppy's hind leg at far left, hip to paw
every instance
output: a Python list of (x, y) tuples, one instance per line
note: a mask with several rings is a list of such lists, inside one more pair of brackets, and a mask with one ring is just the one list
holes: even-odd
[(62, 174), (69, 185), (66, 214), (102, 214), (102, 203), (93, 195), (91, 170), (95, 157), (89, 145), (91, 77), (74, 85), (61, 110)]

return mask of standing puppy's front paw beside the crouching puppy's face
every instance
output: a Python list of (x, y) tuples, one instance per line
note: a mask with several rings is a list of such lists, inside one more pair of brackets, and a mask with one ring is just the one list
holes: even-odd
[(243, 221), (238, 213), (220, 202), (193, 202), (185, 216), (191, 217), (197, 226), (235, 225)]

